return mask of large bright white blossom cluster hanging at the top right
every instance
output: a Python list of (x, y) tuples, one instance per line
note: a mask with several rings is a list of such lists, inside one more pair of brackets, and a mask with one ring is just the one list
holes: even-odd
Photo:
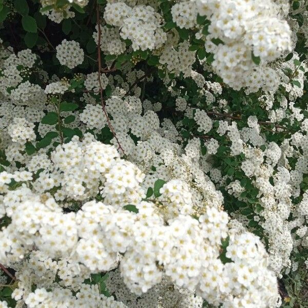
[(210, 21), (205, 48), (214, 53), (213, 67), (224, 82), (236, 89), (266, 87), (268, 69), (263, 65), (291, 51), (290, 27), (279, 18), (279, 6), (265, 0), (196, 3), (199, 14)]

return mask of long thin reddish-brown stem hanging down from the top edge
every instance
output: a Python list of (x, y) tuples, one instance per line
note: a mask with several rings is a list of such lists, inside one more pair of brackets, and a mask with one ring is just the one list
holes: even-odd
[(106, 105), (105, 105), (105, 101), (104, 101), (104, 97), (103, 97), (103, 87), (102, 87), (102, 81), (101, 81), (101, 72), (102, 72), (102, 59), (101, 59), (101, 22), (100, 22), (100, 5), (98, 4), (98, 2), (96, 3), (96, 11), (97, 11), (97, 25), (98, 25), (98, 34), (99, 34), (99, 41), (98, 41), (98, 62), (99, 62), (99, 70), (98, 70), (98, 81), (99, 81), (99, 85), (100, 85), (100, 95), (101, 95), (101, 103), (102, 103), (102, 108), (107, 120), (107, 124), (113, 134), (113, 137), (115, 138), (115, 140), (118, 143), (118, 150), (121, 149), (121, 151), (123, 152), (123, 154), (125, 155), (125, 152), (119, 142), (119, 139), (117, 137), (117, 135), (115, 134), (115, 131), (112, 127), (111, 121), (109, 119), (108, 113), (106, 111)]

